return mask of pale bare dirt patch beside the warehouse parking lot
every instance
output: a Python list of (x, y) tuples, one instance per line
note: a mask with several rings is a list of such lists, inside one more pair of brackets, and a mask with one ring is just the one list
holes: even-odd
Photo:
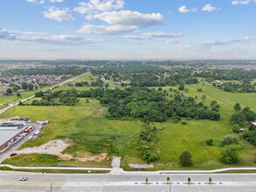
[(107, 159), (106, 153), (91, 155), (89, 153), (77, 153), (74, 157), (72, 154), (62, 154), (66, 147), (73, 145), (70, 140), (52, 140), (39, 147), (28, 147), (20, 151), (17, 154), (52, 154), (59, 156), (59, 160), (75, 160), (75, 161), (103, 161)]

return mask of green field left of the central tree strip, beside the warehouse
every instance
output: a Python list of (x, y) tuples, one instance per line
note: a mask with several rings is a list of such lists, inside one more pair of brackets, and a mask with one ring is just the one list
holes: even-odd
[[(64, 152), (66, 154), (107, 153), (107, 157), (111, 160), (113, 155), (121, 155), (122, 148), (129, 138), (141, 131), (142, 123), (140, 121), (107, 120), (104, 117), (107, 108), (100, 106), (100, 102), (96, 99), (89, 100), (90, 102), (86, 103), (86, 99), (80, 99), (77, 106), (16, 106), (16, 111), (11, 108), (0, 118), (20, 116), (31, 120), (49, 120), (49, 125), (42, 129), (38, 139), (27, 141), (22, 148), (40, 146), (54, 139), (66, 138), (73, 141), (73, 146), (66, 148)], [(18, 161), (22, 163), (26, 158), (36, 161), (37, 158), (32, 157), (24, 155), (22, 160), (13, 158), (13, 161), (7, 162), (17, 165)], [(30, 161), (30, 163), (35, 164), (35, 161)], [(93, 162), (59, 161), (58, 163), (60, 164), (57, 165), (61, 166), (71, 164), (72, 166), (93, 166)], [(108, 167), (110, 163), (106, 161), (105, 167)], [(99, 162), (94, 164), (98, 166)], [(48, 166), (50, 165), (52, 163)]]

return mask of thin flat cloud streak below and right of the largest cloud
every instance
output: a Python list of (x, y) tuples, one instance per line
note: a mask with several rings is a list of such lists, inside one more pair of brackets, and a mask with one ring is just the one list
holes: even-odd
[(183, 36), (183, 33), (168, 33), (168, 32), (148, 32), (142, 33), (142, 36), (124, 36), (124, 38), (133, 40), (146, 40), (152, 38), (176, 38)]

